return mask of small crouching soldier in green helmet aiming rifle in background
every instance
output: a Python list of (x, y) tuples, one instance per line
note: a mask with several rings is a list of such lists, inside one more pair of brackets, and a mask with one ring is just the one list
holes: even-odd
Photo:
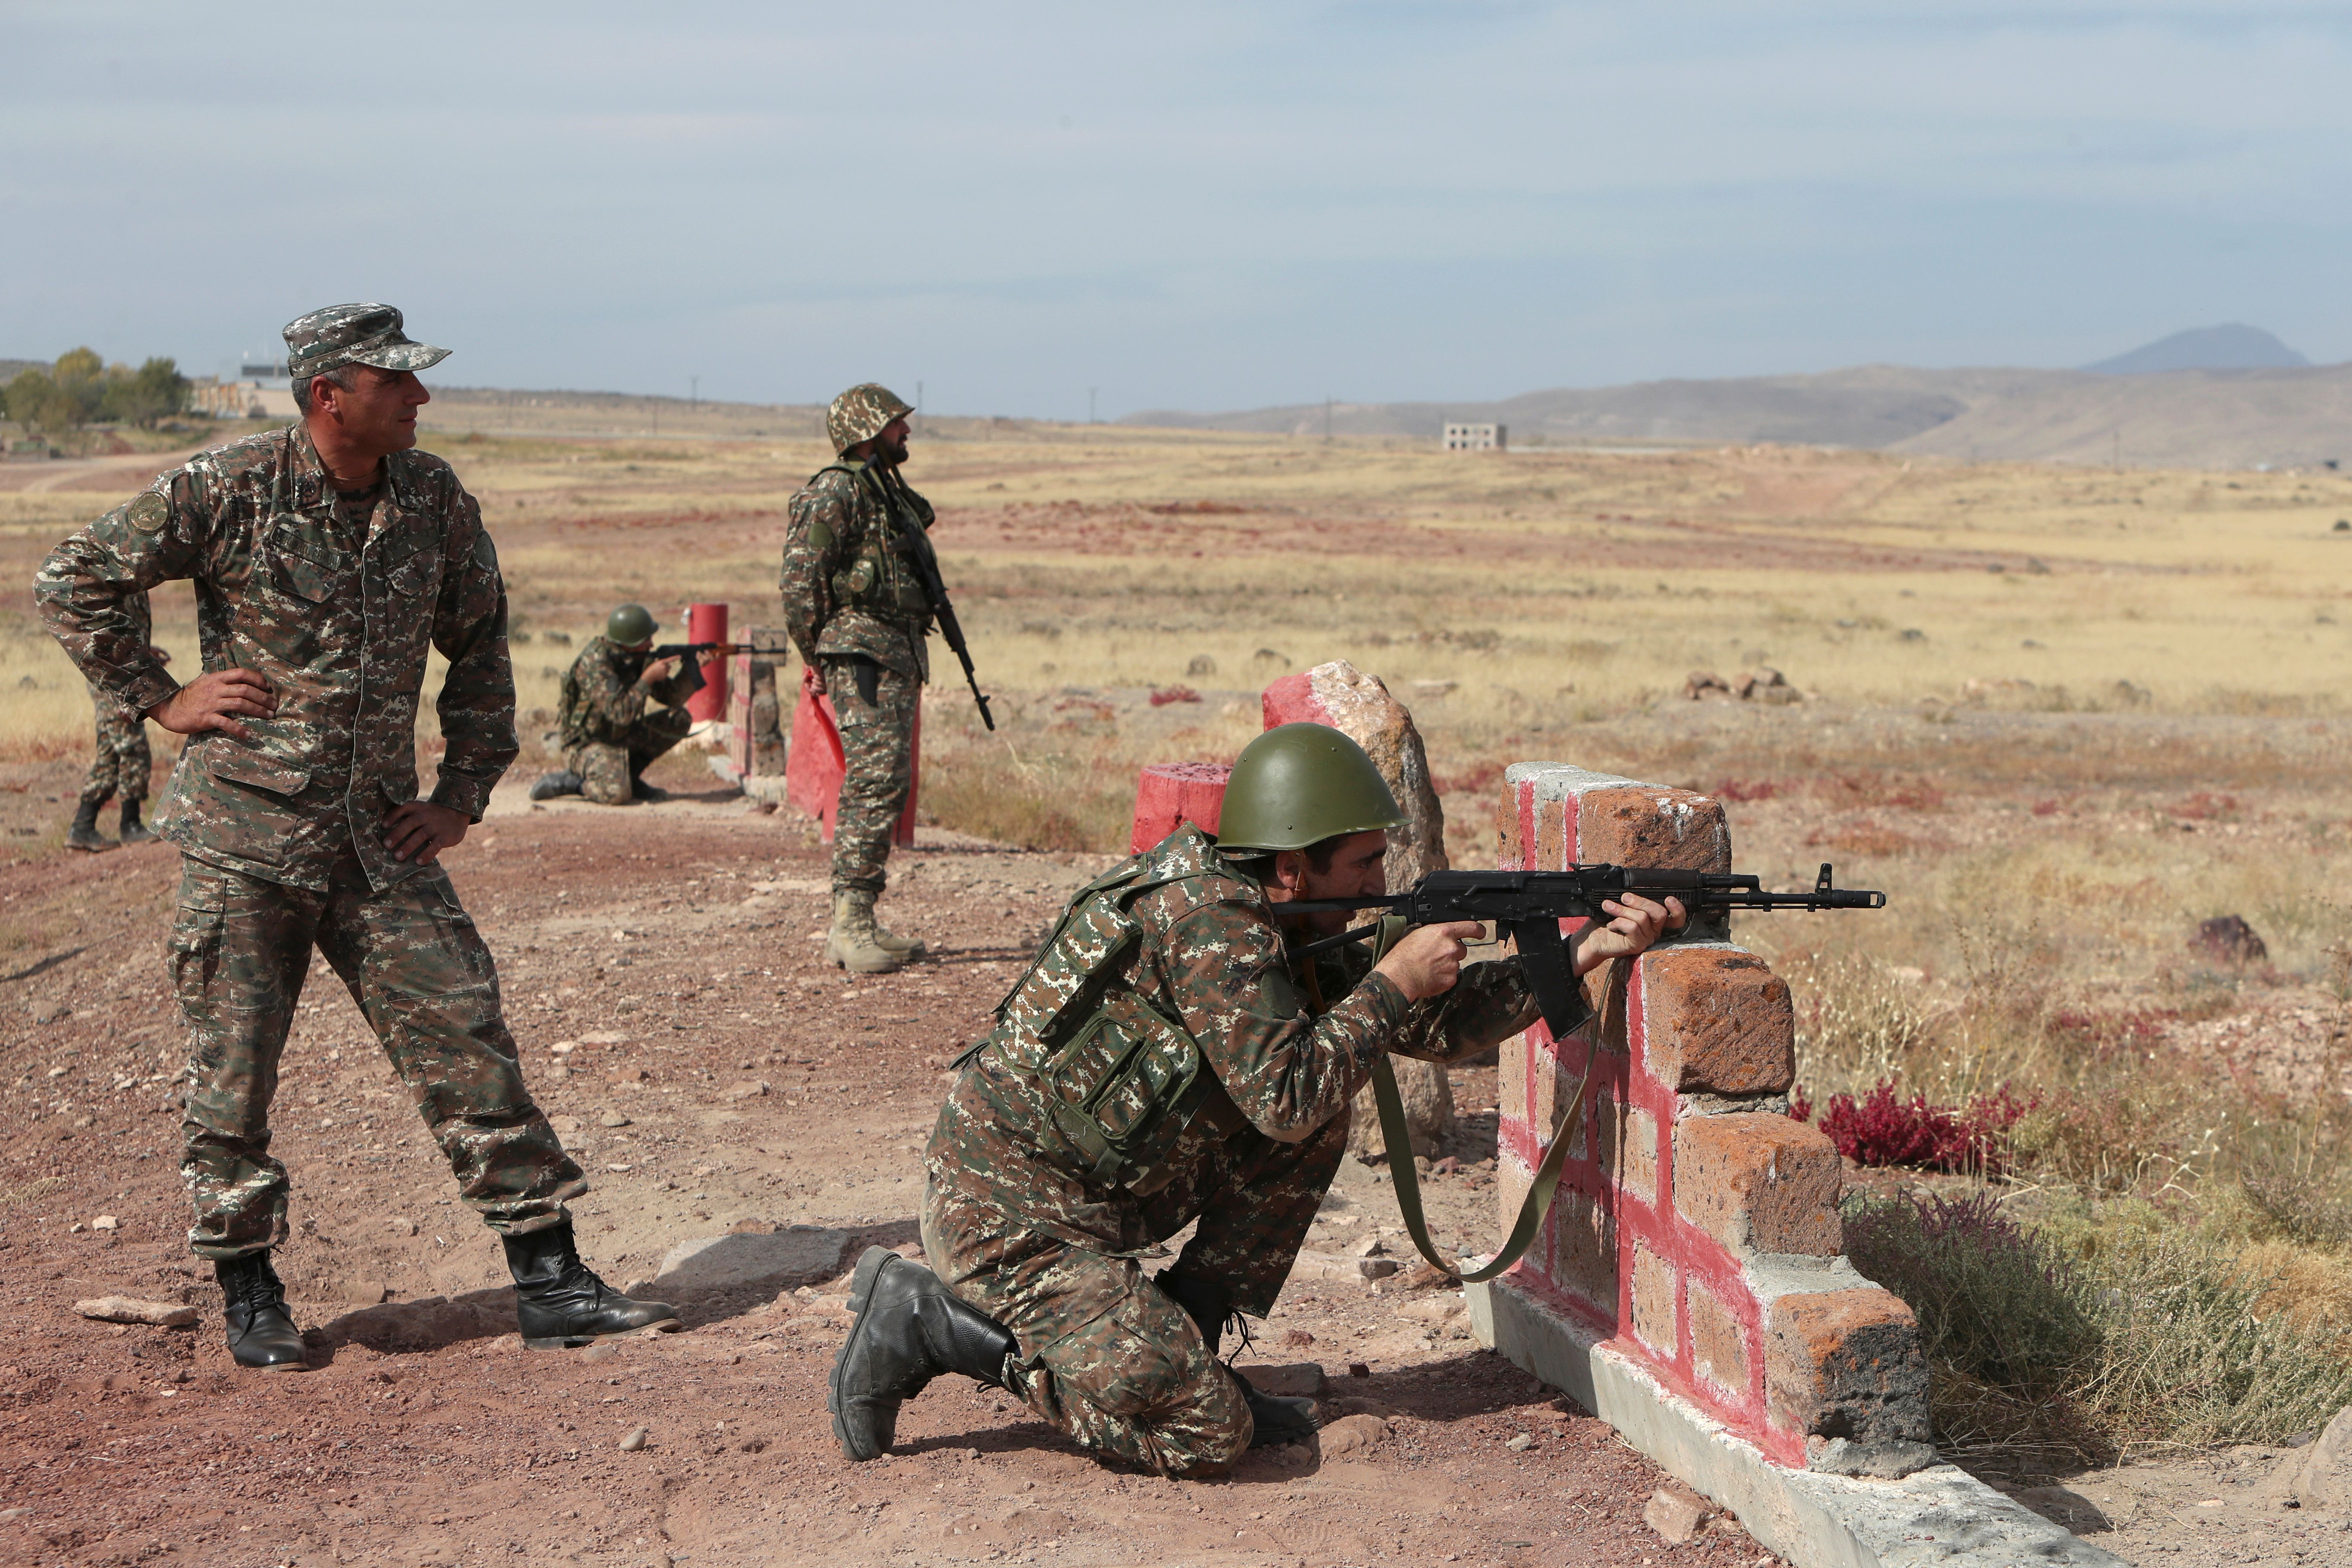
[[(541, 773), (532, 799), (579, 795), (600, 806), (626, 806), (670, 797), (644, 783), (644, 769), (694, 729), (687, 698), (703, 689), (703, 670), (691, 656), (649, 658), (652, 651), (652, 611), (623, 604), (604, 616), (604, 635), (564, 670), (555, 719), (564, 769)], [(652, 712), (647, 703), (654, 703)]]

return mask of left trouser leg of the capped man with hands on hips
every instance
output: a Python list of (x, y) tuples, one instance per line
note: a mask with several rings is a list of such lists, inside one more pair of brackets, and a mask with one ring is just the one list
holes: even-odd
[(188, 1025), (181, 1178), (188, 1246), (242, 1258), (285, 1239), (287, 1171), (270, 1159), (278, 1056), (310, 969), (322, 896), (181, 863), (169, 971)]

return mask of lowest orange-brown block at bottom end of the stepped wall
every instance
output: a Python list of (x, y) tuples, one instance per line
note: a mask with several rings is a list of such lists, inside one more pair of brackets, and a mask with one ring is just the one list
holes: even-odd
[(1905, 1476), (1931, 1465), (1926, 1394), (1919, 1321), (1893, 1293), (1863, 1286), (1769, 1302), (1764, 1403), (1776, 1425), (1806, 1434), (1811, 1469)]

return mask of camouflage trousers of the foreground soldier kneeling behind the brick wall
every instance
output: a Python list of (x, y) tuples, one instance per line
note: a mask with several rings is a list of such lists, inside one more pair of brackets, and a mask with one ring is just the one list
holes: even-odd
[[(1176, 1267), (1265, 1316), (1345, 1152), (1348, 1117), (1303, 1143), (1244, 1128), (1209, 1168), (1145, 1201), (1145, 1229), (1171, 1237), (1197, 1218)], [(1200, 1328), (1134, 1255), (1073, 1246), (1009, 1213), (1018, 1180), (934, 1166), (922, 1199), (931, 1272), (1021, 1345), (1014, 1394), (1082, 1446), (1164, 1476), (1230, 1465), (1249, 1448), (1249, 1406)]]

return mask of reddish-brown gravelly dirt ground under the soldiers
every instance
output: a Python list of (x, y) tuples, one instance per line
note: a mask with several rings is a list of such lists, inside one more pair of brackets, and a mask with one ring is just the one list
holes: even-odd
[[(640, 1281), (682, 1241), (797, 1225), (821, 1262), (677, 1293), (677, 1335), (524, 1352), (496, 1241), (315, 971), (275, 1145), (308, 1375), (230, 1366), (219, 1293), (183, 1246), (160, 964), (176, 853), (68, 856), (54, 818), (75, 769), (0, 769), (21, 856), (0, 865), (0, 919), (35, 936), (0, 976), (16, 1088), (0, 1107), (0, 1561), (1771, 1561), (1731, 1521), (1670, 1547), (1642, 1523), (1663, 1474), (1479, 1352), (1458, 1293), (1362, 1279), (1294, 1276), (1242, 1356), (1312, 1363), (1327, 1415), (1385, 1420), (1350, 1453), (1263, 1450), (1171, 1483), (943, 1380), (891, 1458), (847, 1465), (823, 1410), (847, 1267), (866, 1244), (913, 1244), (941, 1067), (1096, 860), (927, 842), (887, 910), (936, 957), (851, 983), (818, 964), (809, 827), (701, 790), (699, 766), (666, 762), (682, 799), (626, 816), (532, 809), (508, 785), (449, 860), (527, 1072), (595, 1178), (576, 1208), (590, 1260)], [(1491, 1232), (1494, 1070), (1458, 1077), (1463, 1171), (1430, 1190), (1442, 1239), (1470, 1244)], [(1388, 1190), (1350, 1164), (1310, 1248), (1371, 1241), (1409, 1251)], [(75, 1316), (111, 1293), (202, 1321)]]

